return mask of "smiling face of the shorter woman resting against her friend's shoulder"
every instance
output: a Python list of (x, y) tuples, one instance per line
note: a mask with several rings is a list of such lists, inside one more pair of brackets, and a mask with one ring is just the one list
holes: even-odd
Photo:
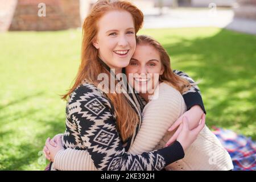
[(163, 71), (159, 52), (148, 44), (137, 45), (126, 67), (129, 83), (139, 93), (154, 92)]

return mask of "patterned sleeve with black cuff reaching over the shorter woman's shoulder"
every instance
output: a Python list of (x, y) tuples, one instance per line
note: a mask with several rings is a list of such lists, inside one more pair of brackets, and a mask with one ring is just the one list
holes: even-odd
[[(191, 84), (195, 84), (195, 81), (191, 77), (189, 77), (186, 73), (177, 71), (177, 70), (174, 70), (174, 73), (176, 75), (179, 75), (180, 77), (185, 78), (186, 80), (191, 82)], [(191, 109), (192, 106), (199, 105), (201, 109), (204, 111), (204, 113), (206, 114), (200, 89), (197, 85), (191, 86), (191, 88), (187, 92), (184, 92), (183, 98), (184, 98), (185, 104), (187, 105), (187, 110)]]

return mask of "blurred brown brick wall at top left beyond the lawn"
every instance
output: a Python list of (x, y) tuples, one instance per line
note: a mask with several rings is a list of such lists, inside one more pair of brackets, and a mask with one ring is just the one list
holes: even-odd
[[(6, 2), (6, 0), (0, 0), (0, 4), (2, 1)], [(5, 26), (0, 25), (2, 30), (47, 31), (81, 26), (79, 0), (16, 0), (13, 2), (15, 2), (14, 7), (5, 5), (6, 9), (13, 9), (13, 16), (10, 13), (6, 13), (5, 18), (0, 16), (0, 22), (1, 19), (5, 22)], [(46, 5), (46, 16), (38, 16), (38, 11), (42, 8), (38, 7), (39, 3)]]

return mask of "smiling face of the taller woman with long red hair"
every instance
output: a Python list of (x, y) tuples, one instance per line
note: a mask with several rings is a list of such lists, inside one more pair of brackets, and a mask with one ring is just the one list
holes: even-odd
[(110, 68), (115, 68), (115, 72), (121, 72), (121, 69), (129, 64), (135, 51), (133, 16), (123, 10), (109, 11), (98, 21), (97, 28), (94, 47)]

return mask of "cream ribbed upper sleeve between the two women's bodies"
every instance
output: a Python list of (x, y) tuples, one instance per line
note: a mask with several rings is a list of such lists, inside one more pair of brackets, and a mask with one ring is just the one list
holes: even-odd
[(142, 125), (128, 152), (141, 154), (154, 150), (168, 132), (167, 129), (184, 111), (185, 102), (181, 94), (170, 85), (161, 83), (157, 99), (148, 102), (143, 109)]

